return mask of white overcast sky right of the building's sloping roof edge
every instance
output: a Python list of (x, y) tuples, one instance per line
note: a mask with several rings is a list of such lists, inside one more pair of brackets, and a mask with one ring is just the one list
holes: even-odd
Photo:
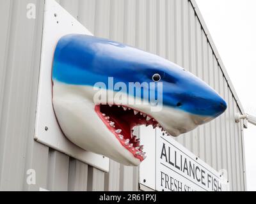
[[(247, 113), (256, 115), (256, 1), (196, 0)], [(256, 127), (245, 131), (248, 191), (256, 191)]]

